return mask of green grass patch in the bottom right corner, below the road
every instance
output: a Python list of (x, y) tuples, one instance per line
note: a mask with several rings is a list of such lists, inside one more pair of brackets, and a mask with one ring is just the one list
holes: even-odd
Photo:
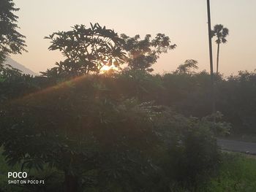
[(256, 159), (237, 153), (223, 153), (216, 176), (202, 185), (200, 191), (256, 191)]

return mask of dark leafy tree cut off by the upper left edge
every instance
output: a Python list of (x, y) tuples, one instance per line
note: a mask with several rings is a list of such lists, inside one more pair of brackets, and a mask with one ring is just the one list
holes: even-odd
[(25, 36), (17, 31), (18, 16), (13, 12), (17, 12), (19, 8), (15, 8), (12, 0), (1, 0), (0, 4), (0, 64), (2, 64), (10, 54), (21, 54), (26, 51)]

